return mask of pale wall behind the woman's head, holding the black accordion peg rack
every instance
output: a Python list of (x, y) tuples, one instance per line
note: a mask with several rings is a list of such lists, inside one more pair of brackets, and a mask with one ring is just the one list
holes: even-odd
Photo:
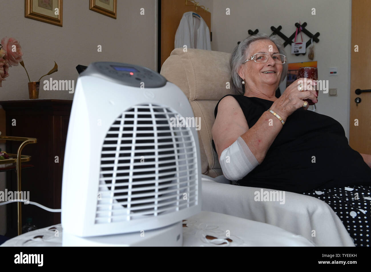
[[(226, 15), (226, 8), (230, 8), (230, 15)], [(316, 15), (311, 15), (312, 8), (316, 9)], [(214, 51), (231, 53), (237, 41), (249, 36), (247, 30), (257, 28), (259, 33), (270, 35), (271, 26), (282, 26), (281, 32), (289, 37), (299, 20), (308, 24), (306, 28), (312, 34), (321, 34), (314, 54), (314, 60), (318, 61), (318, 77), (329, 80), (330, 88), (338, 89), (336, 97), (319, 94), (317, 112), (339, 121), (348, 137), (351, 0), (214, 0), (211, 47)], [(309, 37), (303, 34), (303, 40), (306, 42)], [(289, 63), (309, 61), (308, 53), (305, 56), (290, 54), (290, 45), (285, 50)], [(329, 77), (329, 67), (338, 67), (339, 75)]]

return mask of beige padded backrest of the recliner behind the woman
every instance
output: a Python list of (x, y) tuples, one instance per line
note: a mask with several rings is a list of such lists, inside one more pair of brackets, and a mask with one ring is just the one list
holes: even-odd
[(183, 52), (183, 48), (176, 48), (161, 67), (161, 74), (187, 95), (195, 117), (201, 117), (198, 131), (201, 169), (202, 174), (213, 178), (223, 175), (211, 144), (211, 128), (216, 104), (224, 95), (232, 94), (226, 88), (229, 57), (230, 54), (224, 52), (200, 49)]

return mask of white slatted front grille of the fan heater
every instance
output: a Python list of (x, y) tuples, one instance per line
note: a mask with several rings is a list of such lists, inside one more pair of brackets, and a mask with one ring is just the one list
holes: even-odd
[(109, 128), (101, 152), (95, 223), (130, 221), (197, 205), (197, 152), (179, 115), (156, 104), (135, 105)]

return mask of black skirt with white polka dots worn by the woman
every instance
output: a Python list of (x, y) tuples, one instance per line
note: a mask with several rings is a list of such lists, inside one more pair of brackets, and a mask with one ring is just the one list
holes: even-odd
[(315, 189), (303, 192), (325, 201), (339, 216), (355, 246), (370, 246), (371, 186)]

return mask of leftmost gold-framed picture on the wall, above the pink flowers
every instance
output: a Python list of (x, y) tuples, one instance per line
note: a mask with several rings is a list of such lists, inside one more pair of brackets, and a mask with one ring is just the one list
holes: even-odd
[(25, 0), (24, 17), (62, 26), (63, 0)]

